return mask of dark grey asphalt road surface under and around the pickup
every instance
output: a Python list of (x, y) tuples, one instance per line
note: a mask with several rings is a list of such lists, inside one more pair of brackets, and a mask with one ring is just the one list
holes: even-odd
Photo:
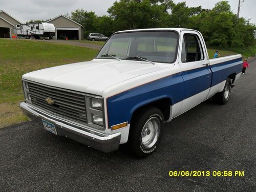
[[(226, 105), (209, 99), (166, 124), (136, 159), (104, 154), (27, 122), (0, 129), (1, 191), (255, 191), (256, 59)], [(170, 170), (240, 170), (244, 177), (169, 177)]]

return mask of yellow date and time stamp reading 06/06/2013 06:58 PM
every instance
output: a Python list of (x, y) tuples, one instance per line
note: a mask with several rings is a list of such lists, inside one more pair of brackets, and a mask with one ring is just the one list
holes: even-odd
[(244, 177), (243, 170), (170, 170), (169, 177)]

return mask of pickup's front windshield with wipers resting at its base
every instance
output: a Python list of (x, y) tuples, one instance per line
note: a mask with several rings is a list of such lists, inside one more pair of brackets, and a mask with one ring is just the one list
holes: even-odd
[(96, 58), (147, 59), (172, 63), (176, 59), (178, 33), (173, 31), (146, 31), (114, 34)]

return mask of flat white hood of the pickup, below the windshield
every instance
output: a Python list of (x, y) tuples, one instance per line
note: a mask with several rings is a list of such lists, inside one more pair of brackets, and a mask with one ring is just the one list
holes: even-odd
[(94, 59), (30, 72), (23, 79), (101, 96), (114, 84), (163, 69), (144, 61)]

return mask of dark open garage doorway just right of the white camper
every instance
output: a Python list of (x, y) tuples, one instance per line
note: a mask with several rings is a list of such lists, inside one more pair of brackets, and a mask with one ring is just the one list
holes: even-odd
[(57, 39), (79, 39), (79, 30), (78, 28), (57, 28)]

